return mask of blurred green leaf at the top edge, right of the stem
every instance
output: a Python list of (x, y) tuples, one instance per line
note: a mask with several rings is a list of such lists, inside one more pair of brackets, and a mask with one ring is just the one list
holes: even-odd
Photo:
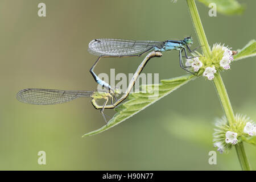
[(236, 0), (198, 0), (207, 7), (210, 3), (215, 3), (217, 12), (225, 15), (242, 14), (244, 7)]

